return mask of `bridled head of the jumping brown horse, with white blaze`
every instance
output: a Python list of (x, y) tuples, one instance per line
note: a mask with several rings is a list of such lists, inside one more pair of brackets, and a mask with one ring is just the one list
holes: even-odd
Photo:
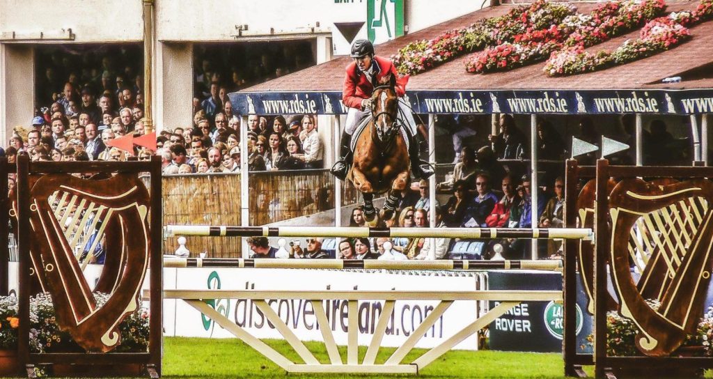
[(396, 77), (384, 76), (371, 96), (371, 116), (376, 127), (376, 136), (384, 141), (396, 128), (396, 114), (399, 112), (399, 98), (396, 96)]

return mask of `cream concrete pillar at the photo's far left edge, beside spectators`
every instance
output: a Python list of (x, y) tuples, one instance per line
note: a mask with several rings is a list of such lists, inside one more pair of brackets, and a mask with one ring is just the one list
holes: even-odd
[(15, 126), (29, 129), (34, 116), (34, 46), (0, 44), (0, 141)]

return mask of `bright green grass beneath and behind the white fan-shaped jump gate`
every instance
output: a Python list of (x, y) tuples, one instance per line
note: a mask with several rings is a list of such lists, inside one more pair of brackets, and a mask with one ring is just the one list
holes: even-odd
[[(236, 339), (165, 338), (164, 378), (403, 378), (414, 375), (302, 375), (288, 374), (275, 363)], [(294, 362), (302, 361), (283, 340), (265, 340), (267, 345)], [(307, 342), (307, 348), (322, 363), (329, 358), (323, 343)], [(340, 347), (342, 357), (347, 348)], [(383, 363), (395, 348), (381, 348), (376, 363)], [(404, 362), (426, 350), (414, 349)], [(359, 348), (359, 357), (366, 347)], [(506, 353), (495, 351), (450, 351), (421, 370), (419, 378), (565, 378), (558, 353)]]

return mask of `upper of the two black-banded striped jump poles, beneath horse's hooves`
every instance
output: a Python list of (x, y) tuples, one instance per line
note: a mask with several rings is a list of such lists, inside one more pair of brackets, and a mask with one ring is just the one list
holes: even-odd
[(168, 225), (166, 236), (232, 237), (403, 237), (403, 238), (539, 238), (593, 241), (590, 228), (366, 228), (326, 226)]

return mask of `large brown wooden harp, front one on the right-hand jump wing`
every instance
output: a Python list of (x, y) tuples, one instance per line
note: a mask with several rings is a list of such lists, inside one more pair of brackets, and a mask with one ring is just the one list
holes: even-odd
[[(632, 178), (610, 194), (612, 281), (620, 314), (638, 326), (636, 344), (646, 355), (670, 355), (703, 314), (713, 266), (712, 200), (706, 180), (657, 186)], [(641, 273), (638, 283), (632, 266)], [(648, 298), (660, 300), (660, 308)]]

